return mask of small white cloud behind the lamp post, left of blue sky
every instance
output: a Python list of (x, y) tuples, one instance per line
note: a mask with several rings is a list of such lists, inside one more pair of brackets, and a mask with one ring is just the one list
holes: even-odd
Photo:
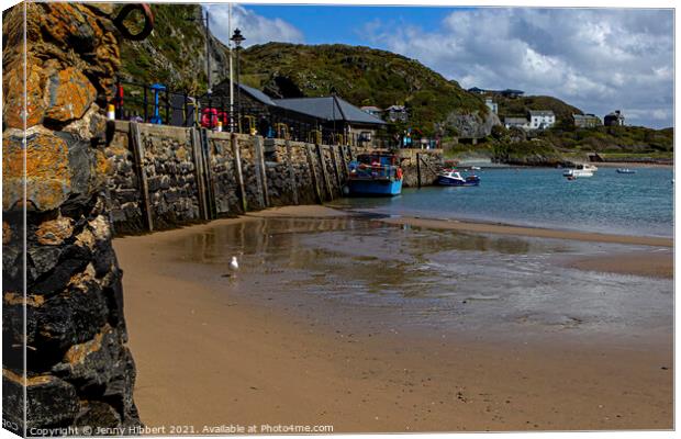
[[(210, 12), (211, 32), (224, 44), (228, 43), (228, 5), (205, 4)], [(292, 24), (281, 19), (268, 19), (244, 8), (239, 4), (232, 5), (232, 32), (239, 29), (246, 37), (244, 46), (264, 44), (269, 42), (302, 43), (303, 34)]]

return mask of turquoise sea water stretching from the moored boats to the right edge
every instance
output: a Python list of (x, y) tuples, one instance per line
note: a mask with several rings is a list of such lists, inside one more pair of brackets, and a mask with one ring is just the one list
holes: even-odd
[(561, 169), (484, 169), (477, 188), (404, 189), (392, 199), (345, 199), (344, 207), (391, 215), (493, 221), (625, 235), (673, 235), (673, 170), (601, 168), (568, 181)]

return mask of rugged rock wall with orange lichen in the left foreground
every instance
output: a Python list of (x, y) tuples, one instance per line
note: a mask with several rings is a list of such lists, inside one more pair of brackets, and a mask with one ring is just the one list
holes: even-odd
[(3, 14), (3, 425), (16, 434), (139, 425), (105, 196), (111, 12), (24, 2)]

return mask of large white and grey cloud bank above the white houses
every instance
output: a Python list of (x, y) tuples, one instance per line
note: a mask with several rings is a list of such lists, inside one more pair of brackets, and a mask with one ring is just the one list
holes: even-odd
[(671, 10), (481, 8), (451, 12), (435, 30), (373, 21), (362, 33), (466, 88), (521, 89), (600, 116), (621, 109), (632, 124), (673, 124)]

